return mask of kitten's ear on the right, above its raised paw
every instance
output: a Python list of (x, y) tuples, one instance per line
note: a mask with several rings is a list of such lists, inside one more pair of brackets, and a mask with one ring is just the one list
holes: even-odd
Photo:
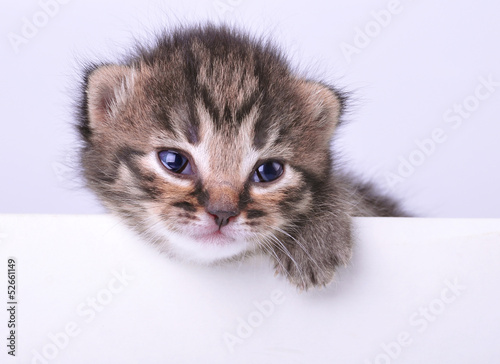
[(304, 89), (315, 126), (328, 139), (332, 137), (344, 107), (344, 97), (322, 83), (305, 81)]

